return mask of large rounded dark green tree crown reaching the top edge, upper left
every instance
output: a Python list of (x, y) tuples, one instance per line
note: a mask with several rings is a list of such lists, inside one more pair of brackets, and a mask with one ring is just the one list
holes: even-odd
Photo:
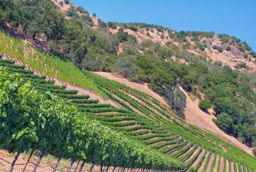
[[(51, 1), (23, 2), (21, 4), (24, 30), (31, 33), (32, 37), (44, 33), (49, 40), (59, 40), (63, 35), (64, 16), (56, 12), (56, 6)], [(31, 14), (33, 12), (33, 14)], [(43, 20), (42, 20), (43, 19)]]

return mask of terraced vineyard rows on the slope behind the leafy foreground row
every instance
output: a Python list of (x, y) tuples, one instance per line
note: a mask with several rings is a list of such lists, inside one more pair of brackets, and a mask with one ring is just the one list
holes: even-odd
[[(224, 159), (228, 159), (226, 166), (229, 169), (237, 169), (238, 165), (239, 171), (246, 168), (256, 170), (255, 157), (219, 136), (186, 123), (152, 96), (79, 69), (70, 61), (65, 62), (58, 57), (40, 53), (8, 35), (1, 34), (0, 42), (0, 50), (5, 58), (23, 64), (17, 66), (14, 65), (15, 61), (1, 60), (1, 66), (8, 67), (12, 73), (20, 73), (24, 79), (30, 79), (38, 91), (51, 91), (68, 104), (77, 106), (81, 115), (96, 119), (130, 139), (182, 161), (186, 166), (184, 170), (219, 170), (219, 164), (225, 164)], [(25, 67), (33, 71), (25, 70)], [(33, 75), (34, 73), (46, 76)], [(99, 103), (97, 99), (89, 99), (88, 95), (77, 95), (78, 90), (53, 85), (53, 78), (91, 89), (98, 96), (111, 99), (120, 108)], [(223, 157), (223, 162), (217, 160), (220, 156)]]

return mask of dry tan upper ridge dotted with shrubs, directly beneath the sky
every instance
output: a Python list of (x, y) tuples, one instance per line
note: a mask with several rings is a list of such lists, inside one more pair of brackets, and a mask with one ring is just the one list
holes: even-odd
[[(75, 9), (77, 6), (75, 4), (70, 3), (69, 5), (63, 4), (63, 7), (60, 6), (59, 2), (61, 0), (52, 0), (55, 5), (57, 5), (62, 12), (67, 12), (70, 7), (74, 7)], [(78, 12), (78, 14), (81, 16), (82, 14)], [(93, 29), (99, 28), (98, 25), (98, 18), (92, 16), (91, 14), (87, 13), (86, 15), (90, 16), (93, 20), (94, 26), (89, 26), (92, 27)], [(66, 16), (66, 18), (70, 19), (69, 17)], [(120, 26), (122, 24), (116, 23), (116, 29), (112, 29), (107, 26), (109, 31), (111, 33), (117, 33), (118, 29), (123, 27)], [(175, 32), (171, 31), (167, 28), (163, 28), (162, 31), (157, 31), (156, 28), (142, 28), (138, 26), (139, 24), (132, 24), (134, 25), (138, 31), (133, 31), (128, 28), (124, 28), (123, 32), (127, 32), (128, 34), (131, 34), (137, 38), (137, 41), (139, 43), (142, 43), (143, 40), (150, 39), (155, 43), (159, 43), (162, 46), (165, 46), (166, 43), (172, 43), (176, 46), (179, 47), (180, 50), (186, 49), (188, 52), (194, 53), (196, 55), (200, 56), (205, 56), (207, 60), (211, 61), (212, 63), (214, 62), (222, 62), (222, 65), (228, 65), (232, 69), (237, 69), (235, 66), (237, 63), (246, 63), (247, 68), (239, 68), (239, 70), (248, 70), (250, 72), (256, 71), (256, 65), (255, 65), (255, 57), (250, 55), (251, 48), (247, 48), (247, 44), (245, 43), (244, 45), (239, 43), (240, 40), (237, 39), (236, 37), (230, 37), (224, 35), (213, 35), (210, 32), (201, 33), (198, 36), (193, 36), (193, 34), (184, 34), (184, 31), (181, 31), (184, 36), (182, 38), (183, 40), (186, 39), (186, 41), (180, 41), (177, 39), (175, 36)], [(221, 38), (223, 39), (221, 41)], [(227, 38), (227, 39), (225, 39)], [(197, 46), (197, 43), (204, 45), (205, 48), (202, 50)], [(186, 48), (184, 48), (185, 46)], [(217, 49), (214, 49), (214, 46), (222, 48), (221, 51), (218, 51)], [(188, 48), (189, 47), (189, 48)], [(227, 47), (230, 47), (230, 50), (227, 50)], [(239, 50), (239, 47), (243, 50)], [(122, 51), (122, 45), (120, 44), (118, 49), (119, 52)], [(248, 49), (248, 50), (247, 50)], [(244, 55), (247, 55), (244, 57)]]

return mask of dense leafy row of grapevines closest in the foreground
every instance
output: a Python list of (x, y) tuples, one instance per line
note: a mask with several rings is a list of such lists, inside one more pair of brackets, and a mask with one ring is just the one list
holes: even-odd
[[(88, 121), (79, 115), (74, 106), (67, 106), (56, 96), (50, 93), (39, 94), (29, 83), (24, 84), (18, 74), (8, 75), (6, 69), (1, 69), (0, 82), (0, 118), (1, 121), (5, 121), (1, 129), (0, 142), (10, 152), (36, 149), (58, 157), (87, 158), (90, 162), (111, 163), (115, 166), (184, 168), (182, 163), (152, 148), (129, 141), (123, 138), (122, 134), (113, 132), (98, 122)], [(8, 102), (17, 106), (10, 106)], [(9, 120), (10, 117), (14, 120)], [(114, 151), (107, 154), (107, 149)], [(137, 159), (141, 162), (138, 163)], [(153, 165), (156, 159), (160, 161)], [(126, 163), (128, 160), (130, 162)]]

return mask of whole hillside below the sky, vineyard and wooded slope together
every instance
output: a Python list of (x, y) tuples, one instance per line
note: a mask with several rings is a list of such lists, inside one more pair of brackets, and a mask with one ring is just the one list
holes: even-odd
[(38, 163), (79, 159), (80, 171), (256, 169), (255, 53), (246, 43), (106, 24), (66, 3), (0, 5), (0, 17), (13, 14), (0, 21), (1, 156), (17, 152), (3, 155), (15, 163), (35, 150)]

